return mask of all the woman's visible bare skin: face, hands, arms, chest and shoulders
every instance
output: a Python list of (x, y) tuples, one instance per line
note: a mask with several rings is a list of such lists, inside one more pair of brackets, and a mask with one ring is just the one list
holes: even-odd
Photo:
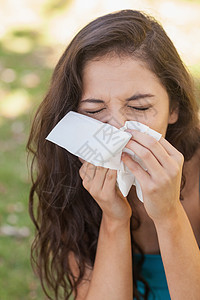
[[(165, 140), (168, 124), (178, 118), (178, 109), (169, 109), (165, 88), (144, 63), (105, 57), (85, 66), (78, 112), (117, 128), (126, 120), (137, 120), (162, 133), (157, 142), (144, 133), (131, 131), (133, 138), (126, 145), (145, 162), (148, 173), (128, 155), (122, 158), (138, 179), (144, 198), (142, 204), (132, 187), (128, 200), (134, 202), (142, 221), (134, 234), (145, 253), (161, 253), (171, 299), (198, 299), (199, 152), (184, 164), (182, 154)], [(187, 184), (181, 203), (183, 166)], [(108, 295), (109, 300), (132, 299), (131, 209), (127, 198), (116, 188), (116, 171), (84, 162), (79, 172), (83, 186), (99, 204), (103, 216), (94, 268), (87, 269), (85, 278), (89, 281), (80, 285), (77, 300), (101, 300)], [(71, 266), (77, 275), (73, 254)]]

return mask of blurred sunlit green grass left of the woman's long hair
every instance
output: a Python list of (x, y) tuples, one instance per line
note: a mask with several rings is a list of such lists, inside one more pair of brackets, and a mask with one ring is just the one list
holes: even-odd
[[(10, 35), (14, 39), (19, 32)], [(21, 35), (33, 39), (31, 32), (21, 32)], [(0, 111), (3, 111), (3, 115), (0, 114), (0, 227), (25, 228), (30, 232), (21, 238), (0, 234), (0, 300), (45, 299), (30, 264), (34, 227), (28, 213), (30, 180), (25, 149), (33, 111), (43, 98), (52, 71), (41, 62), (39, 54), (48, 51), (46, 47), (38, 46), (37, 39), (39, 36), (35, 34), (33, 47), (26, 54), (9, 51), (4, 47), (4, 40), (0, 45), (0, 65), (3, 66), (0, 76), (6, 69), (15, 74), (12, 82), (1, 81), (1, 91), (5, 97), (1, 97), (0, 101)], [(27, 74), (38, 78), (38, 82), (26, 86), (24, 78)], [(15, 98), (19, 91), (26, 93), (25, 105), (28, 106), (24, 108), (23, 103), (22, 107), (18, 107), (19, 102)], [(10, 106), (5, 112), (4, 107), (8, 104)], [(9, 115), (9, 109), (14, 114)], [(18, 109), (19, 113), (15, 114)]]

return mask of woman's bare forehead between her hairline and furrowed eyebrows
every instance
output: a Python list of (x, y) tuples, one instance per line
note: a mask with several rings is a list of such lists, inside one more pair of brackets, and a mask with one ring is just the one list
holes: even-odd
[(131, 57), (102, 57), (88, 61), (83, 69), (83, 93), (119, 95), (163, 88), (148, 65)]

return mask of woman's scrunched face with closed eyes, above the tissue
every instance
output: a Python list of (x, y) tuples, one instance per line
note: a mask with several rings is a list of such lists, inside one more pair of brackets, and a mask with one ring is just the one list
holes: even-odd
[(138, 121), (165, 137), (177, 111), (169, 113), (169, 97), (144, 62), (117, 55), (89, 61), (83, 70), (78, 112), (117, 128)]

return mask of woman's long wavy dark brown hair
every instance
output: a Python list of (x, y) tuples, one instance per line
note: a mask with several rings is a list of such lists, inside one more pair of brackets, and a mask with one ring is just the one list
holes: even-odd
[[(160, 79), (168, 92), (170, 109), (179, 107), (178, 120), (168, 125), (166, 139), (182, 152), (185, 161), (200, 143), (192, 81), (173, 43), (154, 18), (139, 11), (122, 10), (97, 18), (78, 32), (55, 67), (27, 144), (32, 154), (29, 211), (36, 227), (31, 258), (49, 299), (67, 300), (72, 290), (76, 298), (86, 265), (94, 265), (102, 214), (82, 185), (79, 159), (45, 138), (66, 113), (77, 111), (86, 62), (110, 53), (144, 61)], [(183, 181), (182, 178), (181, 189)], [(132, 224), (133, 218), (136, 216), (132, 216)], [(142, 253), (133, 235), (132, 249)], [(78, 278), (70, 268), (70, 252), (79, 266)], [(134, 297), (141, 299), (136, 281), (142, 280), (147, 299), (149, 287), (141, 277), (140, 267), (134, 266), (133, 273)]]

